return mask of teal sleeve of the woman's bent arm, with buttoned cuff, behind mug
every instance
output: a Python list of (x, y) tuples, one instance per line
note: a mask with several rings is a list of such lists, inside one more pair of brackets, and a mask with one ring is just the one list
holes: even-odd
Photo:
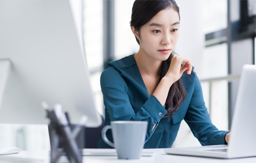
[(153, 95), (148, 98), (139, 111), (135, 113), (127, 94), (127, 82), (114, 67), (109, 67), (102, 72), (101, 91), (111, 121), (125, 120), (148, 122), (145, 142), (147, 142), (154, 133), (155, 129), (152, 131), (153, 126), (167, 113), (164, 106), (162, 106)]

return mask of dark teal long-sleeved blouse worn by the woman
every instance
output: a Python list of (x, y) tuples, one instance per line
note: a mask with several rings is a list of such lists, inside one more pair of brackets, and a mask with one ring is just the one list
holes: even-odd
[[(144, 148), (171, 148), (184, 119), (202, 145), (224, 144), (228, 131), (220, 131), (211, 123), (196, 73), (188, 75), (184, 72), (181, 80), (187, 96), (171, 118), (163, 118), (167, 113), (165, 106), (154, 95), (149, 96), (134, 55), (109, 62), (101, 74), (104, 125), (118, 120), (148, 121)], [(113, 141), (111, 130), (107, 137)], [(112, 147), (101, 139), (98, 148)]]

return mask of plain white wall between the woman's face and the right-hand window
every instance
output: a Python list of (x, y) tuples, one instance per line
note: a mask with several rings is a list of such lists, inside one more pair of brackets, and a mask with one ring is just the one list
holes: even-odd
[(204, 49), (203, 3), (202, 0), (176, 0), (180, 7), (180, 38), (175, 52), (192, 59), (195, 72), (202, 74), (202, 55)]

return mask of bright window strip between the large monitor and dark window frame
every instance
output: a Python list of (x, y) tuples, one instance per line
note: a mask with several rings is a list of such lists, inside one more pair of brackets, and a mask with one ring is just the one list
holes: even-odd
[(83, 38), (97, 110), (103, 115), (100, 76), (103, 70), (103, 1), (83, 0)]

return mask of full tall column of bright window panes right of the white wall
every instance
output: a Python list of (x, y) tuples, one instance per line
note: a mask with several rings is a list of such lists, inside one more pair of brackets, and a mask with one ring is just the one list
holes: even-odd
[[(208, 33), (218, 31), (219, 38), (206, 40), (203, 51), (201, 78), (219, 78), (228, 75), (228, 44), (225, 30), (227, 21), (227, 0), (203, 1), (203, 22), (206, 39)], [(204, 80), (202, 83), (205, 104), (212, 120), (219, 130), (228, 130), (228, 82), (227, 80)]]

